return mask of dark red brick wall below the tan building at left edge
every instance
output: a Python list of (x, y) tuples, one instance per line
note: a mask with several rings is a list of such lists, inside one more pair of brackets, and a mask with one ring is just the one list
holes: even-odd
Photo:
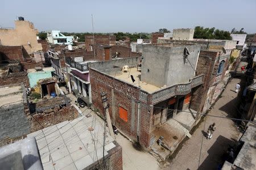
[(0, 61), (8, 59), (24, 61), (22, 46), (0, 46)]

